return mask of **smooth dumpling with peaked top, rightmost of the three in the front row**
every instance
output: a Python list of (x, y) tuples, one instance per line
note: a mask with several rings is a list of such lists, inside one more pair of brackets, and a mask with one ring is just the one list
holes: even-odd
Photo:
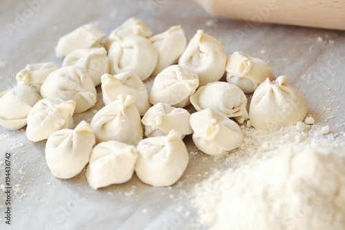
[(148, 137), (138, 144), (137, 150), (135, 172), (142, 182), (152, 186), (175, 184), (188, 165), (188, 151), (177, 131)]

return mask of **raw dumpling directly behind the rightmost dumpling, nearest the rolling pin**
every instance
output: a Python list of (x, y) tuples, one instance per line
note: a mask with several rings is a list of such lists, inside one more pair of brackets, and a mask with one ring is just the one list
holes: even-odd
[(241, 88), (244, 93), (254, 90), (268, 77), (273, 80), (273, 70), (262, 59), (244, 52), (233, 52), (226, 62), (226, 81)]

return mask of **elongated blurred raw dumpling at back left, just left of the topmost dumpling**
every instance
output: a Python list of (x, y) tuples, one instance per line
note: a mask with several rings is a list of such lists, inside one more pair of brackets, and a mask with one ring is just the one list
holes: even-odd
[(79, 48), (103, 47), (106, 35), (92, 23), (79, 26), (67, 35), (60, 37), (55, 48), (57, 57), (65, 57)]

